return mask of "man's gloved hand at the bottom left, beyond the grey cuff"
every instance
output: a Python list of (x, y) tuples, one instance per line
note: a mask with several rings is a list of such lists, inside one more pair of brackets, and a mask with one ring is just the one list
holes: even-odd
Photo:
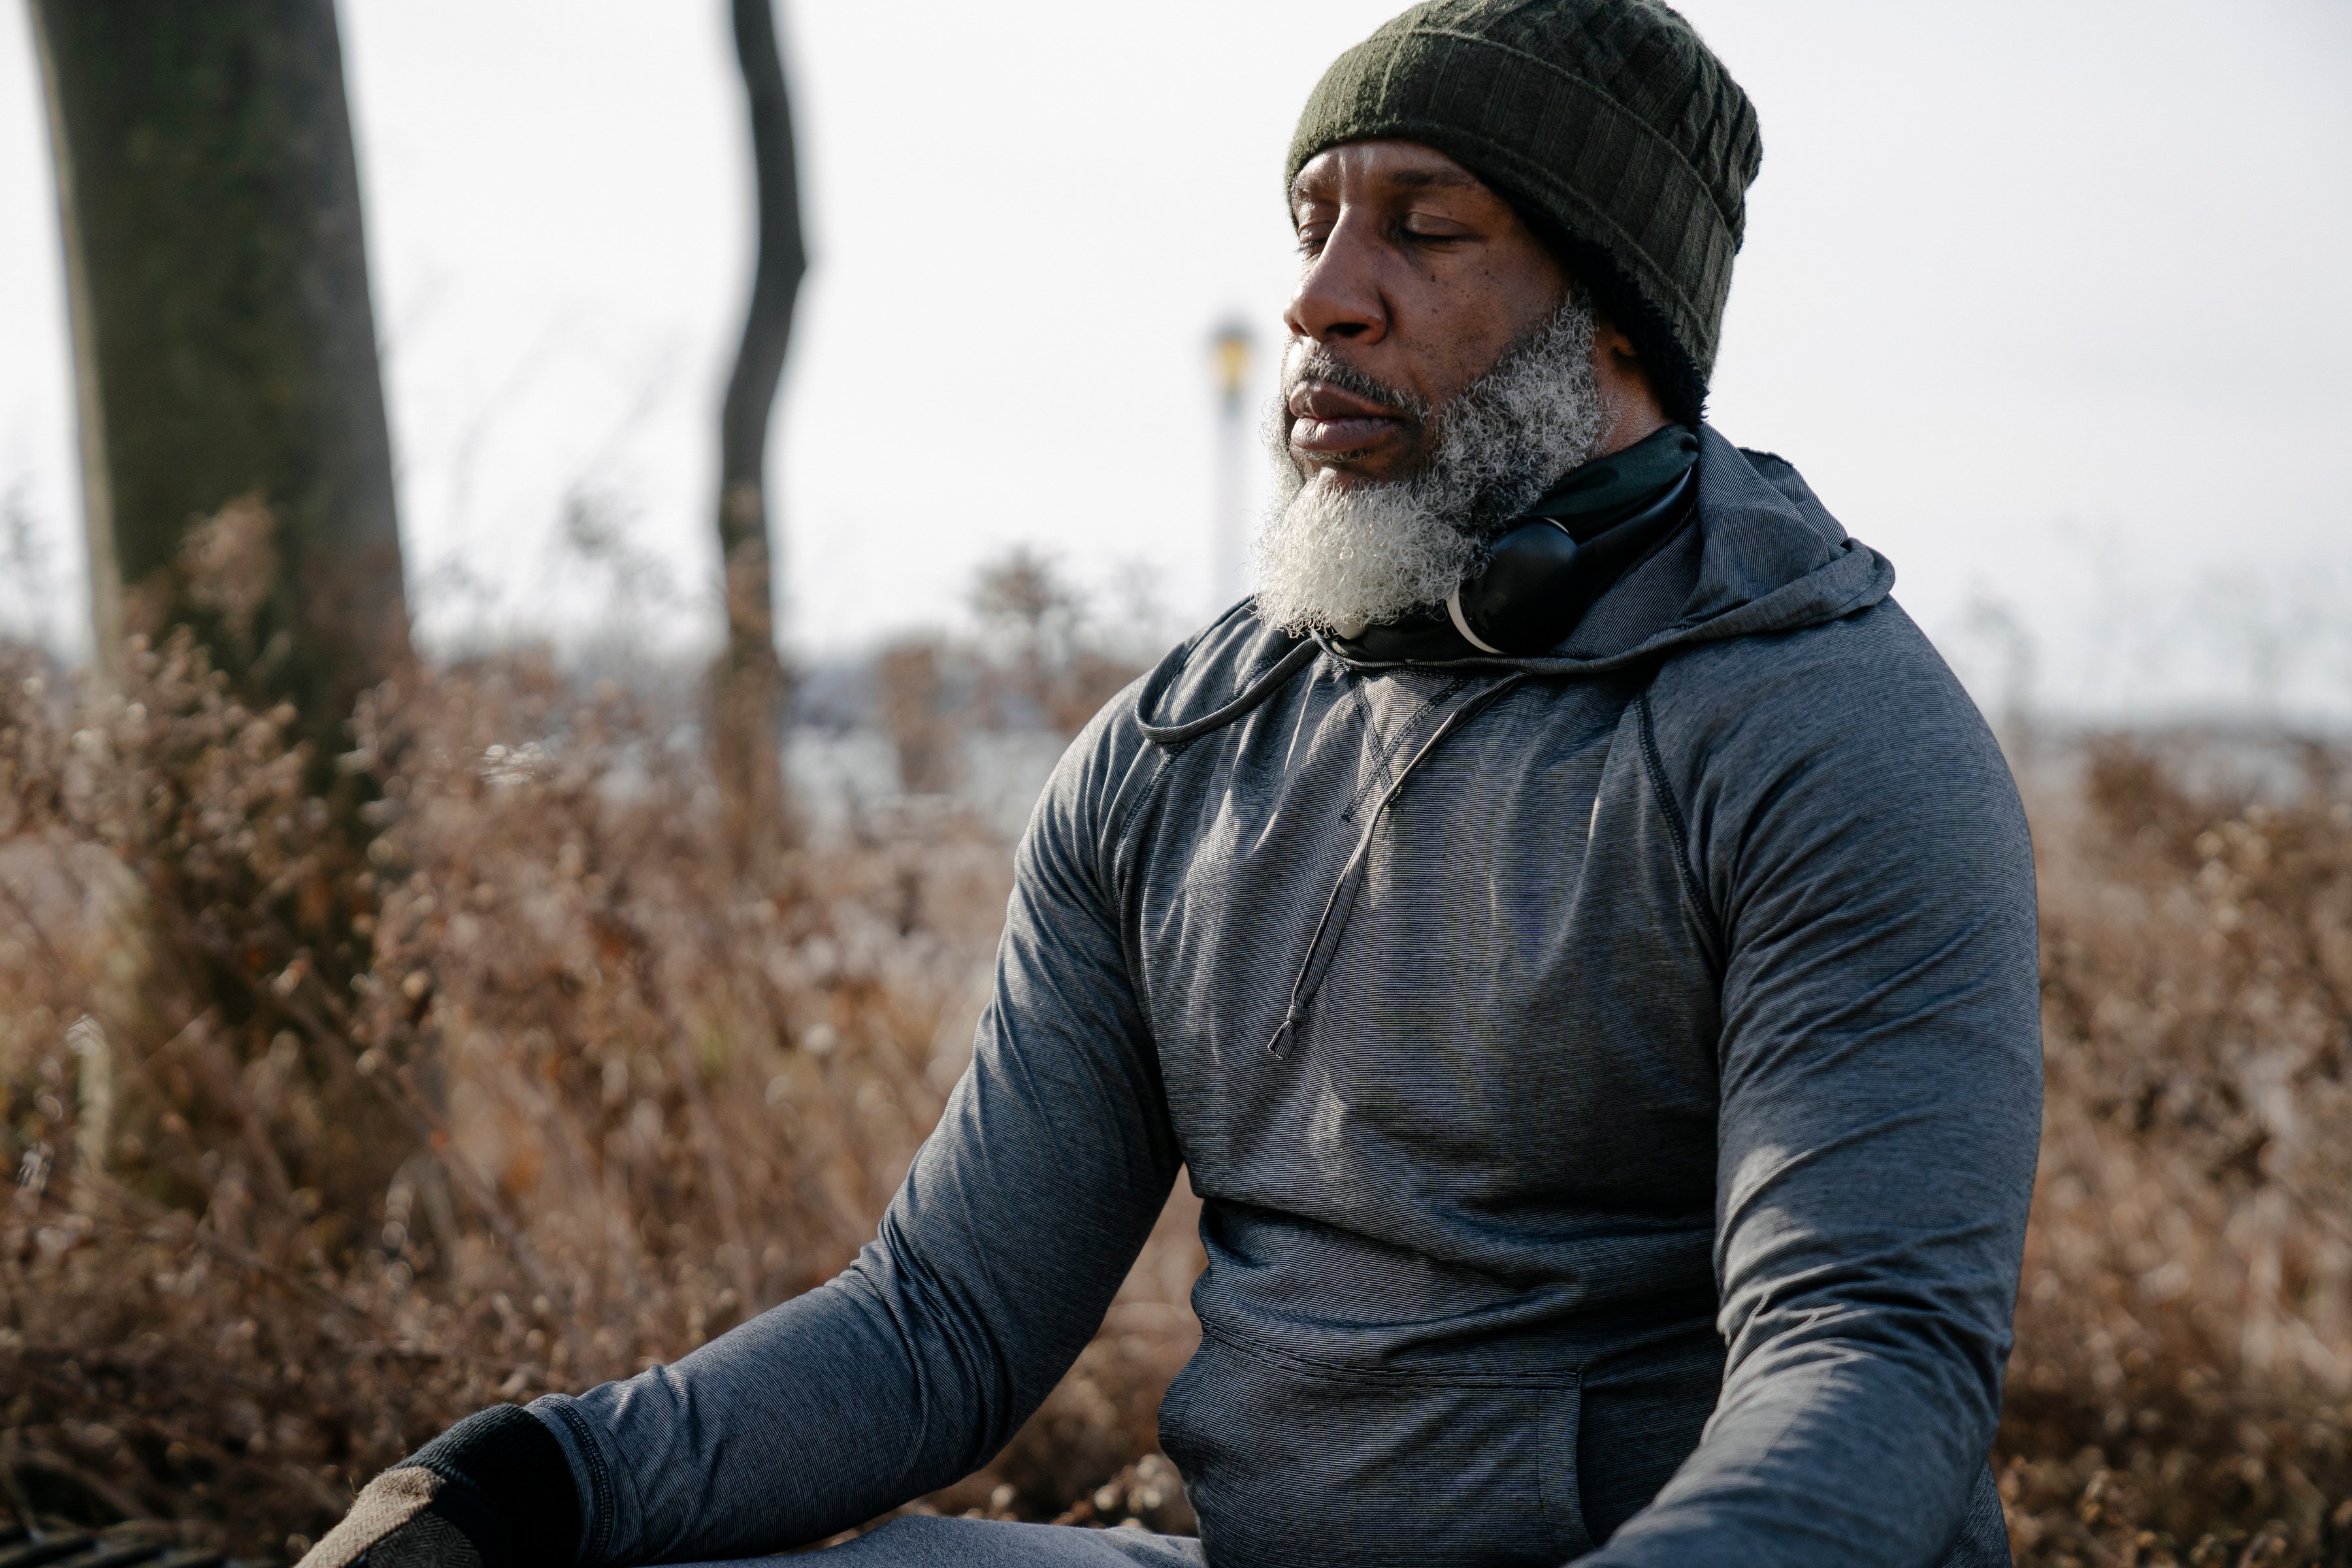
[(296, 1568), (572, 1568), (579, 1490), (522, 1406), (477, 1410), (369, 1481)]

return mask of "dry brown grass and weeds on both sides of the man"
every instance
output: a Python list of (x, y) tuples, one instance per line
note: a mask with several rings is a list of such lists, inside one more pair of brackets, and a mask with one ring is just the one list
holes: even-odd
[[(381, 693), (332, 766), (287, 717), (183, 642), (118, 693), (0, 672), (5, 1500), (261, 1556), (470, 1408), (835, 1272), (962, 1070), (1009, 877), (938, 813), (746, 870), (663, 715), (532, 658)], [(2270, 804), (2183, 776), (2107, 748), (2034, 799), (1997, 1460), (2032, 1566), (2352, 1552), (2352, 806), (2324, 752)], [(1190, 1222), (929, 1507), (1185, 1521), (1150, 1446)]]

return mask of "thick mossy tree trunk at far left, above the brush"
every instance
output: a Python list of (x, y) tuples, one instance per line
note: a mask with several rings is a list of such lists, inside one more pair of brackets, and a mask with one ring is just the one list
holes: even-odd
[(334, 745), (409, 654), (334, 0), (31, 9), (99, 658), (195, 625)]

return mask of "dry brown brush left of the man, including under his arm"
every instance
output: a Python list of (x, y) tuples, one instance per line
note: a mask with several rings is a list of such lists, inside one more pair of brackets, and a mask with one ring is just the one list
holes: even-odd
[[(830, 1276), (969, 1056), (1009, 865), (955, 818), (762, 882), (670, 726), (532, 658), (379, 691), (329, 799), (289, 717), (186, 639), (0, 691), (21, 1512), (296, 1552), (456, 1415)], [(1178, 1218), (943, 1502), (1056, 1516), (1145, 1453), (1192, 1267)]]

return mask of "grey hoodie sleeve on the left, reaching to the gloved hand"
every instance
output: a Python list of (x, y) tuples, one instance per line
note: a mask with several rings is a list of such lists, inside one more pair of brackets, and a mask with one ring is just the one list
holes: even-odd
[(971, 1070), (880, 1237), (675, 1366), (532, 1406), (586, 1497), (581, 1568), (776, 1552), (946, 1486), (1094, 1335), (1178, 1152), (1091, 865), (1089, 741), (1021, 844)]

